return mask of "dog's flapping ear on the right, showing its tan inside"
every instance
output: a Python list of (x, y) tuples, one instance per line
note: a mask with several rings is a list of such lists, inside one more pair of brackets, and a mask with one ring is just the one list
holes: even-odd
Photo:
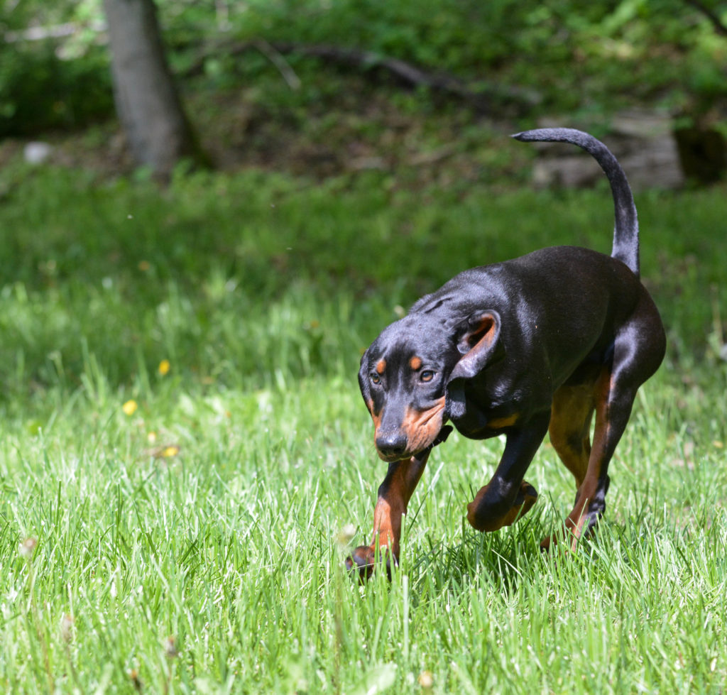
[(505, 354), (500, 337), (500, 317), (494, 310), (473, 313), (456, 336), (457, 350), (462, 354), (447, 382), (446, 409), (448, 417), (464, 417), (467, 379), (476, 377), (488, 364)]

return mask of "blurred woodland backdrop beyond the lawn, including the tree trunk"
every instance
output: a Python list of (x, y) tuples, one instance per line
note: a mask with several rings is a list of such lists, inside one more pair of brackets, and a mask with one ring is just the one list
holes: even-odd
[(315, 177), (433, 163), (481, 177), (487, 126), (551, 119), (659, 140), (649, 146), (670, 168), (654, 174), (664, 185), (711, 182), (726, 166), (726, 8), (6, 0), (0, 156), (12, 156), (9, 139), (36, 138), (52, 161), (104, 174), (140, 162), (168, 174), (187, 156)]

